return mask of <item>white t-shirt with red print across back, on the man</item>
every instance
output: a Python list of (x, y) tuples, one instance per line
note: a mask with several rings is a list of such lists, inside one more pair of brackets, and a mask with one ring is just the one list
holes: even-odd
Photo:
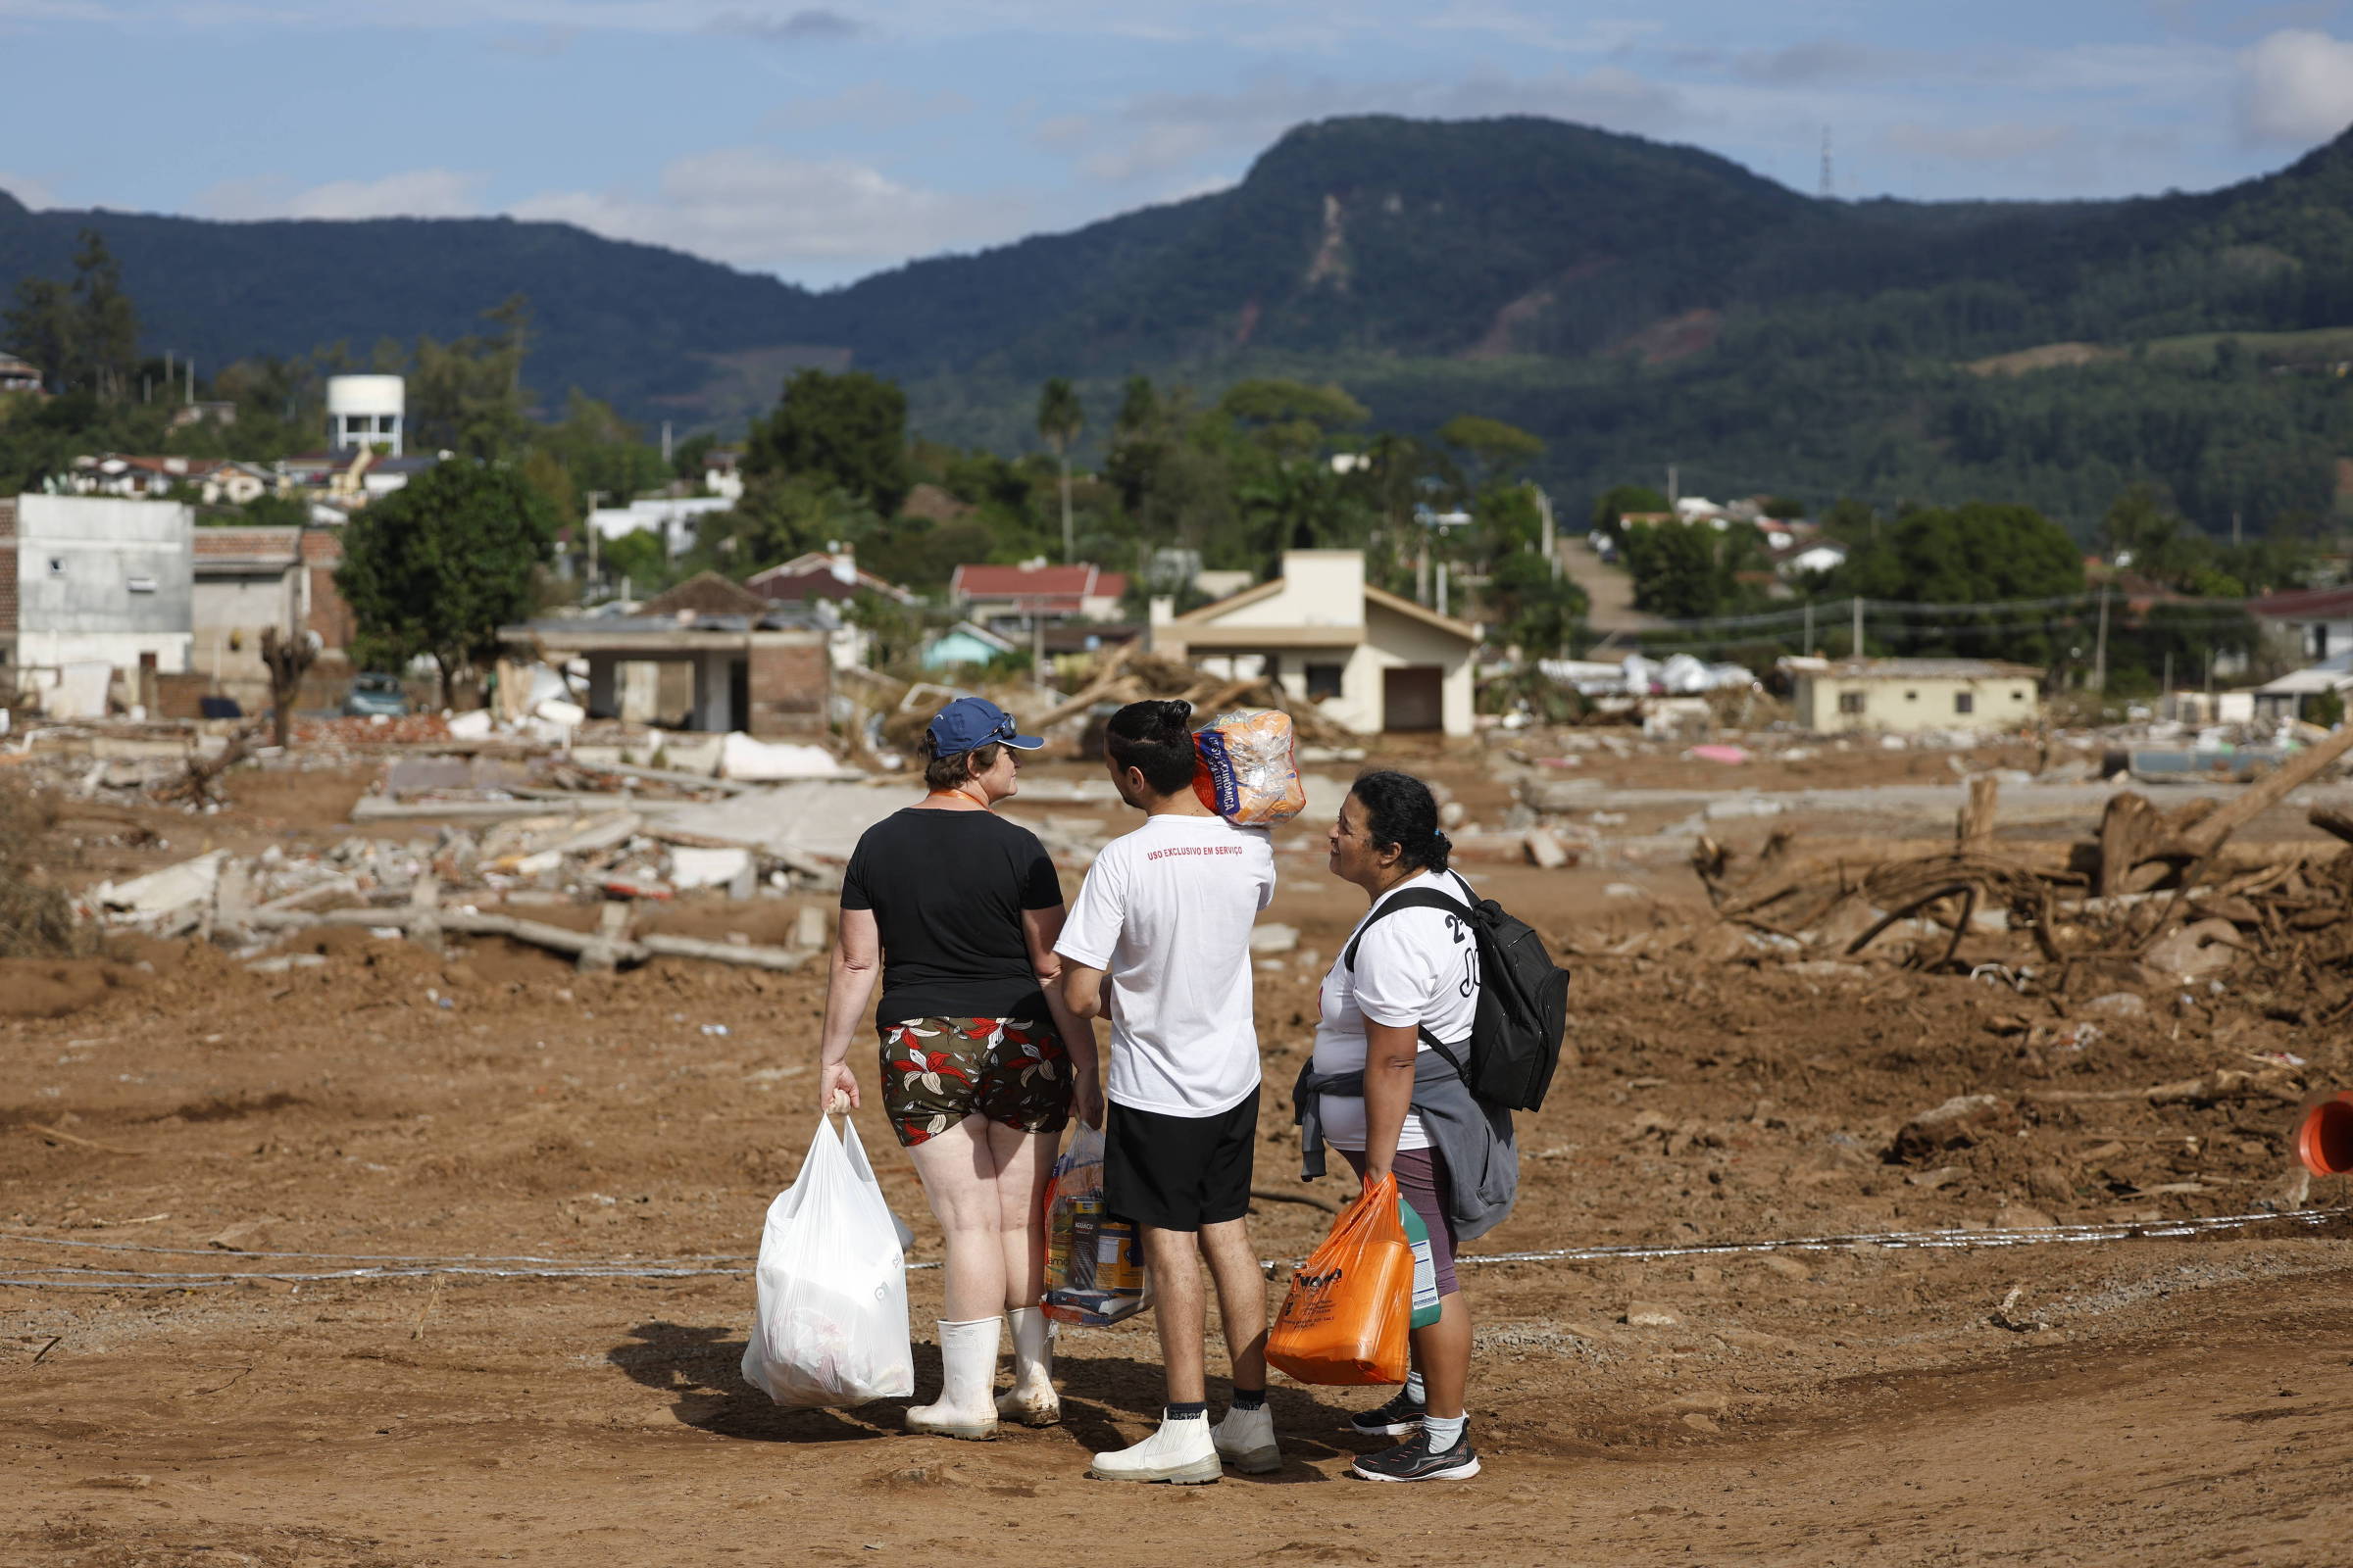
[(1118, 1105), (1214, 1117), (1259, 1086), (1249, 926), (1273, 896), (1264, 827), (1148, 816), (1104, 844), (1054, 952), (1111, 976)]

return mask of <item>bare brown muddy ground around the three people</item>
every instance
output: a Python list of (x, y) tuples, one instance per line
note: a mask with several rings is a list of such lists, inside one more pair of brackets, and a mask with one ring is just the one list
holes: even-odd
[[(1494, 816), (1475, 766), (1433, 766)], [(1619, 783), (1666, 776), (1638, 766)], [(325, 844), (351, 832), (341, 813), (365, 785), (245, 776), (216, 818), (66, 820), (52, 858), (92, 879), (209, 844)], [(1934, 832), (1779, 825), (1859, 853), (1866, 832)], [(1311, 844), (1287, 835), (1271, 912), (1301, 950), (1259, 976), (1259, 1180), (1294, 1192), (1313, 1190), (1282, 1086), (1360, 907)], [(2306, 1060), (2308, 1093), (2353, 1077), (2341, 1032), (2174, 987), (2151, 987), (2139, 1016), (2099, 1013), (2064, 1060), (2028, 1060), (2019, 1020), (2089, 1020), (2085, 997), (1887, 964), (1793, 973), (1718, 940), (1673, 860), (1640, 875), (1645, 896), (1605, 896), (1624, 865), (1478, 875), (1584, 957), (1577, 1060), (1520, 1121), (1518, 1215), (1473, 1253), (2289, 1208), (2306, 1199), (2287, 1100), (2035, 1107), (1962, 1147), (1892, 1145), (1955, 1093), (2129, 1088), (2282, 1051)], [(664, 919), (769, 940), (791, 917), (791, 900), (708, 900)], [(285, 950), (325, 961), (264, 976), (214, 947), (125, 943), (0, 964), (0, 1274), (744, 1258), (816, 1128), (816, 976), (576, 976), (506, 943), (433, 957), (365, 931)], [(913, 1258), (936, 1260), (887, 1128), (868, 1112), (861, 1133)], [(2308, 1201), (2346, 1201), (2337, 1187)], [(1254, 1225), (1266, 1258), (1297, 1258), (1325, 1213), (1266, 1201)], [(772, 1408), (736, 1373), (736, 1274), (12, 1284), (0, 1563), (2313, 1563), (2353, 1523), (2346, 1227), (1489, 1262), (1464, 1279), (1487, 1469), (1419, 1490), (1346, 1479), (1344, 1415), (1379, 1394), (1280, 1378), (1280, 1474), (1085, 1481), (1092, 1448), (1155, 1415), (1148, 1324), (1064, 1338), (1066, 1425), (979, 1446), (899, 1434), (896, 1403)], [(929, 1389), (936, 1272), (911, 1286)]]

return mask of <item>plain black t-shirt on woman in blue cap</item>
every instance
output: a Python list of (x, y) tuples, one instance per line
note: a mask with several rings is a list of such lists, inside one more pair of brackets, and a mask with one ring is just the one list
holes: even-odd
[(1021, 912), (1061, 907), (1061, 882), (1028, 827), (993, 811), (894, 811), (859, 835), (842, 907), (873, 910), (882, 933), (878, 1025), (1045, 1018)]

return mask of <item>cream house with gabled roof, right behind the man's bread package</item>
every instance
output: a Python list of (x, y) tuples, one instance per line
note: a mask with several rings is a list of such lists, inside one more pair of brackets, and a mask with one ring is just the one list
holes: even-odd
[(1282, 576), (1172, 616), (1151, 646), (1226, 679), (1275, 679), (1358, 733), (1471, 733), (1480, 630), (1365, 583), (1362, 550), (1285, 550)]

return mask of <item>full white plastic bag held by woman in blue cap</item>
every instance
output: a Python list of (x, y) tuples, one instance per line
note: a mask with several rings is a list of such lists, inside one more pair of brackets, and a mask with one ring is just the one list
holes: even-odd
[(781, 1406), (854, 1406), (915, 1392), (906, 1333), (906, 1246), (859, 1131), (826, 1117), (800, 1175), (767, 1206), (760, 1312), (744, 1380)]

